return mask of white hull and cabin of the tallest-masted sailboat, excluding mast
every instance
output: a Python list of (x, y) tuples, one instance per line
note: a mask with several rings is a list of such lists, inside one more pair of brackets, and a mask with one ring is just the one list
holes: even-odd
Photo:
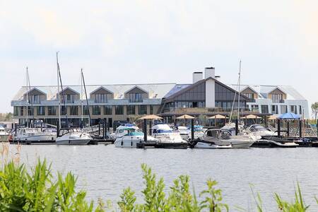
[(86, 145), (93, 140), (89, 134), (83, 133), (81, 129), (65, 128), (59, 130), (56, 143), (59, 145)]

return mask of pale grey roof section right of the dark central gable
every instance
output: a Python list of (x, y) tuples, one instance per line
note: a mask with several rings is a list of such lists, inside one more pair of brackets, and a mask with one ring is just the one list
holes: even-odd
[[(227, 84), (231, 88), (238, 90), (237, 85), (235, 84)], [(279, 90), (283, 91), (287, 95), (288, 100), (306, 100), (293, 86), (262, 86), (262, 85), (241, 85), (241, 91), (245, 90), (247, 87), (255, 90), (256, 93), (259, 95), (259, 98), (266, 99), (268, 98), (269, 93), (271, 91), (278, 88)]]

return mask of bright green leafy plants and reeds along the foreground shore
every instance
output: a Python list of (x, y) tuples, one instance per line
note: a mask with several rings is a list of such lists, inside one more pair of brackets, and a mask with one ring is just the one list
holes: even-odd
[[(24, 164), (20, 164), (20, 146), (16, 148), (17, 153), (10, 155), (8, 143), (1, 144), (0, 211), (247, 211), (244, 208), (229, 208), (223, 202), (222, 191), (216, 187), (218, 183), (212, 179), (208, 179), (206, 189), (197, 194), (190, 186), (190, 177), (180, 175), (165, 192), (164, 179), (157, 179), (146, 164), (141, 165), (143, 201), (137, 201), (130, 187), (123, 189), (115, 204), (102, 199), (87, 201), (86, 191), (77, 191), (77, 177), (71, 172), (65, 176), (58, 172), (54, 178), (51, 165), (40, 159), (28, 171)], [(252, 187), (251, 190), (254, 211), (264, 211), (261, 195), (255, 194)], [(273, 198), (277, 205), (273, 211), (307, 211), (308, 208), (317, 207), (305, 204), (299, 184), (293, 201), (285, 201), (278, 194), (274, 194)]]

